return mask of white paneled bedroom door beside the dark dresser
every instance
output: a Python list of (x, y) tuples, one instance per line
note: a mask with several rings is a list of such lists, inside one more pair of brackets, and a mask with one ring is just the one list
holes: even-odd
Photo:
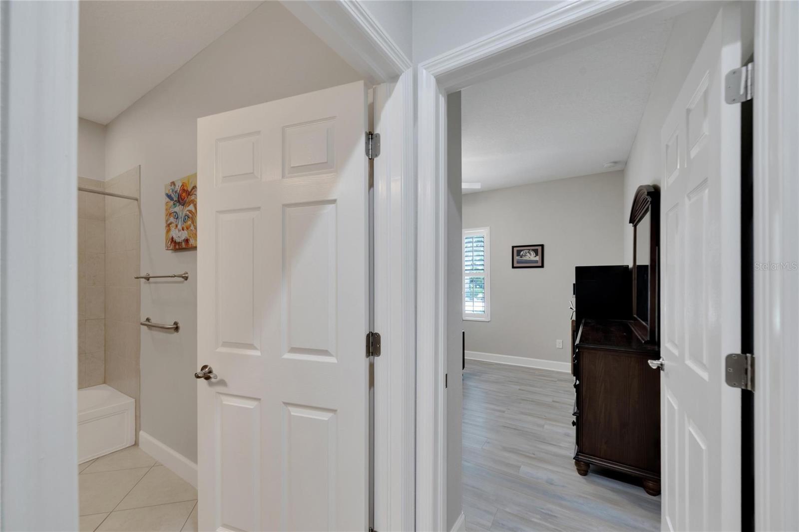
[(721, 8), (662, 129), (663, 530), (741, 527), (741, 10)]

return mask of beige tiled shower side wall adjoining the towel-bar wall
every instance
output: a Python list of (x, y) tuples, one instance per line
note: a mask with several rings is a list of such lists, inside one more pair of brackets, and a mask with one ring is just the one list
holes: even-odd
[[(109, 181), (105, 191), (139, 197), (139, 167)], [(105, 383), (136, 400), (139, 434), (139, 202), (105, 197)]]

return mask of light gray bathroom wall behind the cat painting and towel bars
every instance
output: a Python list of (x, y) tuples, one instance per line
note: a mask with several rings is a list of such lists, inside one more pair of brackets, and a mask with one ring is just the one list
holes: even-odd
[[(141, 430), (197, 461), (197, 252), (165, 250), (164, 185), (197, 172), (197, 118), (357, 81), (360, 76), (278, 2), (264, 2), (106, 126), (105, 178), (141, 165)], [(202, 204), (204, 190), (198, 191)]]

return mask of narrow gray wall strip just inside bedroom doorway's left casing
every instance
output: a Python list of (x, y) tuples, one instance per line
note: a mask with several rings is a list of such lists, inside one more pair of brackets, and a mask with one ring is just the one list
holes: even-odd
[(447, 530), (458, 520), (462, 504), (461, 415), (463, 359), (461, 331), (460, 93), (447, 96)]

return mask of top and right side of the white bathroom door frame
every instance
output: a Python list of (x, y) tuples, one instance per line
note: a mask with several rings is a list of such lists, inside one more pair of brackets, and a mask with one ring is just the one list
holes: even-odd
[(414, 78), (411, 59), (363, 2), (283, 5), (374, 87), (374, 528), (415, 529)]

